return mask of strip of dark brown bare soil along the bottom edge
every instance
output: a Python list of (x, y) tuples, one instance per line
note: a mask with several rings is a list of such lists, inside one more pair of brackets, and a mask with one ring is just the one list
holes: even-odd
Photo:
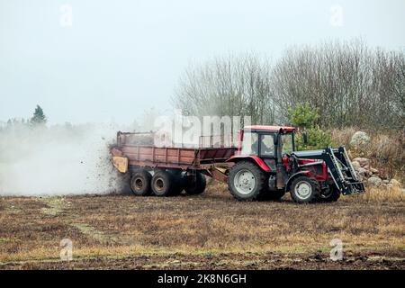
[(404, 254), (350, 253), (341, 261), (321, 254), (218, 254), (212, 256), (138, 256), (114, 259), (95, 257), (70, 262), (27, 261), (8, 263), (4, 269), (404, 269)]

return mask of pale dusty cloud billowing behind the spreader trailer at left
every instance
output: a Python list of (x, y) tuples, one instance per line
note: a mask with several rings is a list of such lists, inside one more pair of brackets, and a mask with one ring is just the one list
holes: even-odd
[(0, 130), (0, 196), (114, 193), (112, 125), (17, 125)]

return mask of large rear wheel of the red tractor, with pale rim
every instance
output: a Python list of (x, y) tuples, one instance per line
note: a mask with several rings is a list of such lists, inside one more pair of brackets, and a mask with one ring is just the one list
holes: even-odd
[[(249, 174), (244, 175), (247, 172)], [(245, 179), (250, 180), (250, 184), (238, 184), (238, 187), (236, 186), (236, 182), (244, 181)], [(267, 181), (266, 173), (257, 165), (248, 161), (240, 161), (235, 166), (232, 166), (229, 171), (229, 192), (238, 201), (260, 200), (260, 196), (266, 193)]]

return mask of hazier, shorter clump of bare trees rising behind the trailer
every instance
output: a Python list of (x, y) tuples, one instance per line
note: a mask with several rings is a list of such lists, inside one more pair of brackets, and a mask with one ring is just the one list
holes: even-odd
[(201, 67), (188, 67), (173, 100), (185, 114), (251, 116), (254, 123), (275, 121), (270, 65), (254, 54), (215, 58)]

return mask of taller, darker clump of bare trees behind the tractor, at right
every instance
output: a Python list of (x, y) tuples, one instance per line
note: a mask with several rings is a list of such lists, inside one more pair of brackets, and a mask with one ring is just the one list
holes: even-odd
[(280, 121), (297, 103), (319, 108), (324, 127), (403, 127), (404, 55), (361, 40), (293, 48), (272, 71)]

